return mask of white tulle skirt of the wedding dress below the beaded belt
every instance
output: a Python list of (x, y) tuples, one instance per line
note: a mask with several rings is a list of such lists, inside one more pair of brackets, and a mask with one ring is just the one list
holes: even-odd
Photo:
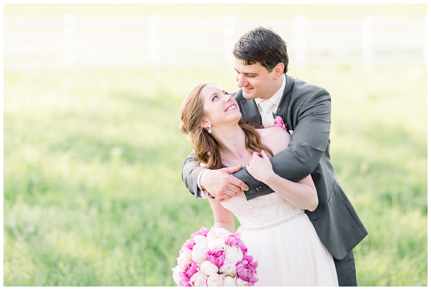
[(238, 228), (258, 262), (255, 286), (338, 286), (334, 258), (307, 214), (264, 230)]

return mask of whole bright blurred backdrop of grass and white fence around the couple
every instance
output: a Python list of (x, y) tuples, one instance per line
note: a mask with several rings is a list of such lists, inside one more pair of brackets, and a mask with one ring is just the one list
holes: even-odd
[[(212, 212), (181, 181), (195, 85), (287, 42), (332, 97), (331, 160), (369, 235), (358, 286), (427, 286), (427, 4), (4, 4), (4, 286), (175, 286)], [(236, 221), (236, 226), (239, 224)]]

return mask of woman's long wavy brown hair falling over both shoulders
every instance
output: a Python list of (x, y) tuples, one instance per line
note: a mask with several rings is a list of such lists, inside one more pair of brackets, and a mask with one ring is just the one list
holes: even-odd
[[(200, 84), (194, 87), (184, 98), (180, 109), (180, 131), (187, 135), (191, 148), (194, 149), (196, 159), (205, 163), (206, 168), (219, 169), (225, 167), (219, 151), (219, 144), (212, 138), (206, 128), (200, 126), (206, 117), (203, 110), (203, 100), (199, 97), (203, 87), (210, 84)], [(265, 150), (270, 156), (272, 151), (260, 141), (256, 128), (247, 120), (240, 119), (238, 125), (243, 129), (246, 139), (245, 147), (250, 154)]]

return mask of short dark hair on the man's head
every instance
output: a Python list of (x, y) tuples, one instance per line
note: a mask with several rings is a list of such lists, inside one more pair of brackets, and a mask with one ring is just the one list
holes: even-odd
[(287, 73), (289, 57), (286, 47), (277, 32), (259, 26), (240, 37), (232, 54), (238, 60), (244, 60), (245, 64), (260, 63), (269, 72), (272, 72), (278, 63), (283, 63), (283, 73)]

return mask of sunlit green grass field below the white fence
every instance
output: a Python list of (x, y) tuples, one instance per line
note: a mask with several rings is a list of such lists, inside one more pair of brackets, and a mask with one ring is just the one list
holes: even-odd
[[(427, 286), (427, 68), (310, 67), (332, 96), (331, 160), (369, 235), (359, 286)], [(187, 91), (232, 69), (4, 71), (4, 286), (174, 286), (212, 212), (181, 181)], [(237, 224), (238, 226), (238, 224)]]

